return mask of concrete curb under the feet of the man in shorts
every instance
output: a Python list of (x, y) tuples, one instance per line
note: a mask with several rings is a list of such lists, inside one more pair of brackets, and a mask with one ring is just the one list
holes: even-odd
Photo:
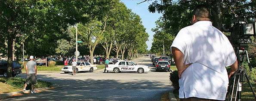
[[(34, 91), (42, 91), (42, 90), (47, 90), (47, 89), (52, 89), (52, 88), (43, 87), (43, 88), (34, 89)], [(6, 93), (6, 94), (0, 94), (0, 98), (6, 98), (6, 97), (13, 96), (13, 95), (16, 95), (16, 94), (23, 94), (23, 93), (30, 93), (30, 92), (31, 92), (30, 90), (19, 91), (19, 92), (9, 92), (9, 93)]]

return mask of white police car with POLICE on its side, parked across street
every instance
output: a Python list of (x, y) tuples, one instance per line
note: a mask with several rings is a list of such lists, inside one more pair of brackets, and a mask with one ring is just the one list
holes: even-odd
[(150, 71), (150, 68), (146, 65), (137, 65), (131, 61), (118, 61), (116, 64), (109, 64), (106, 70), (114, 71), (114, 73), (119, 73), (121, 71), (134, 71), (144, 73)]

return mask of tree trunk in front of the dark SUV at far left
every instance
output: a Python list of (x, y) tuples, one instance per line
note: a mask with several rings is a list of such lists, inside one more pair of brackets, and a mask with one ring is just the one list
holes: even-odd
[[(9, 30), (9, 29), (8, 29)], [(8, 31), (10, 32), (10, 31)], [(12, 34), (9, 34), (8, 37), (8, 46), (7, 46), (7, 56), (8, 56), (8, 62), (7, 62), (7, 77), (12, 77), (12, 46), (13, 46), (13, 36)]]

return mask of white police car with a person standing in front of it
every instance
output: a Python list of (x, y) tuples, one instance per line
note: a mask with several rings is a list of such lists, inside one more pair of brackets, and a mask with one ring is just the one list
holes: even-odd
[[(97, 69), (98, 68), (96, 67), (96, 65), (92, 65), (90, 62), (77, 62), (77, 68), (76, 68), (75, 72), (76, 73), (78, 71), (80, 71), (80, 72), (85, 72), (85, 71), (93, 72), (94, 70), (97, 70)], [(72, 65), (62, 67), (62, 71), (64, 71), (64, 73), (66, 73), (66, 74), (68, 72), (72, 72)]]

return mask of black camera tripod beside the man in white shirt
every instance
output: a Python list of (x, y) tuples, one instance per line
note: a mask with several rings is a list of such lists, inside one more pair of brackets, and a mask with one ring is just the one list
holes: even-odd
[[(244, 61), (245, 59), (247, 59), (250, 71), (252, 71), (252, 66), (250, 64), (247, 50), (245, 50), (244, 47), (237, 47), (235, 48), (235, 52), (237, 54), (238, 70), (229, 78), (229, 86), (228, 86), (228, 92), (226, 95), (226, 101), (232, 101), (234, 91), (235, 91), (234, 101), (241, 101), (242, 83), (245, 82), (245, 78), (256, 100), (256, 95), (253, 90), (252, 84), (250, 83), (246, 70), (244, 70)], [(236, 88), (235, 88), (235, 85), (237, 85)]]

